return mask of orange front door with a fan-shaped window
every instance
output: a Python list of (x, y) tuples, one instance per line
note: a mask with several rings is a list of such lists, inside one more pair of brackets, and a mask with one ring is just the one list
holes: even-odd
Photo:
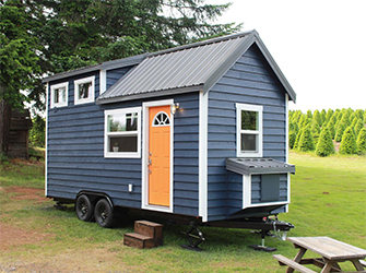
[(149, 108), (149, 204), (170, 204), (170, 106)]

